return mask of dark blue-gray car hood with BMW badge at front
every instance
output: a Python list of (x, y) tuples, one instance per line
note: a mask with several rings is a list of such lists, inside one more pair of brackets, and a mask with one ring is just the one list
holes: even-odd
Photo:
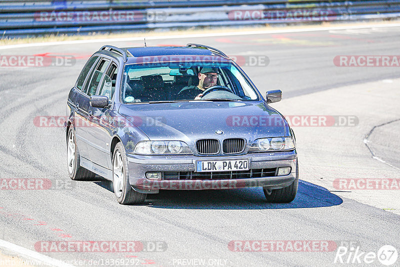
[(262, 101), (122, 104), (119, 114), (150, 140), (243, 137), (251, 141), (285, 136), (287, 125), (280, 113)]

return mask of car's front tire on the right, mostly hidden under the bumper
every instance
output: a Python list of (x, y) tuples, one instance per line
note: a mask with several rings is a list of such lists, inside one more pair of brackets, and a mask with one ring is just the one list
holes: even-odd
[(296, 178), (286, 187), (279, 189), (268, 189), (263, 187), (265, 198), (268, 202), (272, 203), (288, 203), (293, 201), (297, 194), (298, 187), (298, 161), (296, 163)]

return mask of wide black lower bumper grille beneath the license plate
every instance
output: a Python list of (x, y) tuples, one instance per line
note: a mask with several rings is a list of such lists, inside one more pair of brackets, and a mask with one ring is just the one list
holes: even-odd
[(163, 180), (224, 180), (271, 177), (276, 175), (276, 168), (258, 168), (233, 171), (163, 171)]

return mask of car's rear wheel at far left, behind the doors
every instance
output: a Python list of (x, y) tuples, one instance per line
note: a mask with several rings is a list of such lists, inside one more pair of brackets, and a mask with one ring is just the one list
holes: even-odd
[(68, 174), (72, 180), (85, 181), (91, 180), (96, 175), (88, 169), (80, 166), (79, 149), (76, 145), (75, 131), (71, 125), (68, 128), (68, 137), (66, 139), (66, 156)]

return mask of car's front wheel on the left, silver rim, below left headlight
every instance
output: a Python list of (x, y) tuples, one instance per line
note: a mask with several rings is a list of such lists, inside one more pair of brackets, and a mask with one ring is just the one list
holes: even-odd
[(116, 200), (120, 204), (141, 204), (146, 199), (147, 194), (136, 192), (129, 183), (125, 148), (121, 142), (115, 145), (112, 156), (112, 183)]

